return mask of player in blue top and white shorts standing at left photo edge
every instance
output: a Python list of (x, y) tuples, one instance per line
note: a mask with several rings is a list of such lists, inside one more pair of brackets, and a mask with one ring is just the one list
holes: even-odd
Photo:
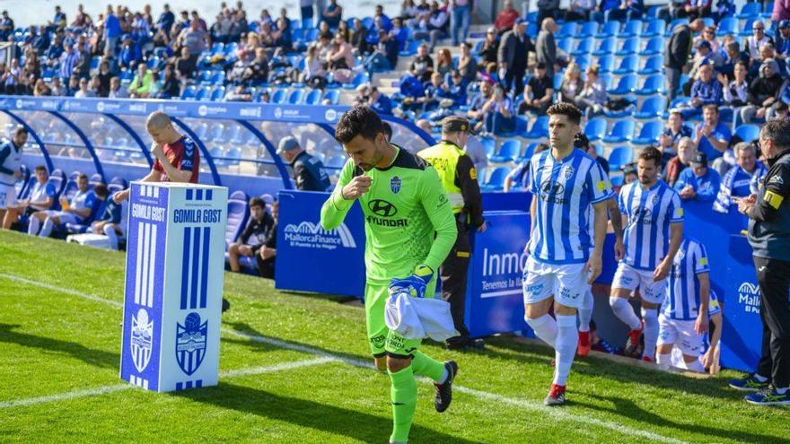
[(0, 144), (0, 228), (8, 230), (16, 222), (17, 179), (22, 178), (22, 147), (28, 141), (28, 130), (19, 126), (11, 140)]

